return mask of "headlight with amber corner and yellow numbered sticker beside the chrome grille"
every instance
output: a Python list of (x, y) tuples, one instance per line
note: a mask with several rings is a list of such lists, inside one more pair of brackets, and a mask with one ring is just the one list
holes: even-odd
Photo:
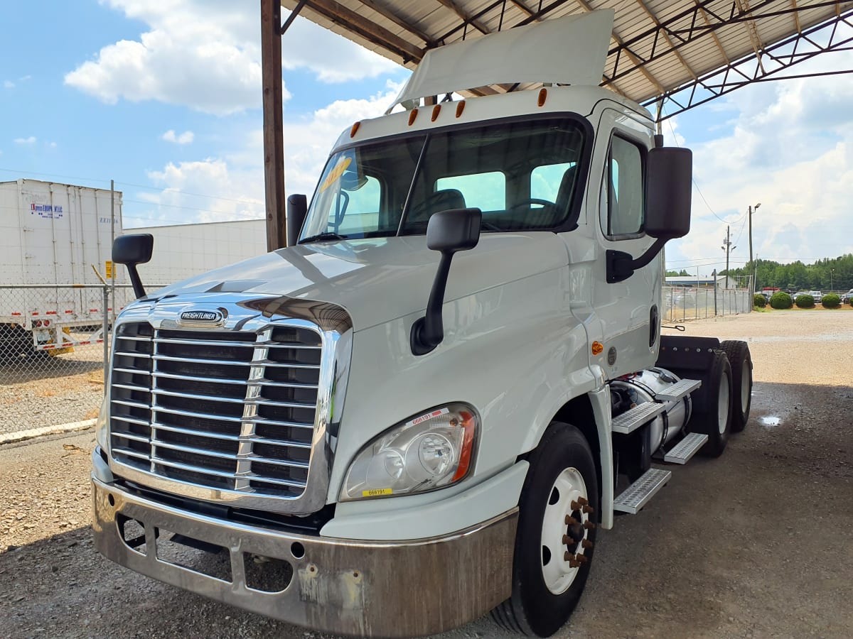
[(478, 431), (477, 412), (461, 403), (398, 423), (356, 455), (340, 500), (407, 495), (460, 481), (471, 469)]

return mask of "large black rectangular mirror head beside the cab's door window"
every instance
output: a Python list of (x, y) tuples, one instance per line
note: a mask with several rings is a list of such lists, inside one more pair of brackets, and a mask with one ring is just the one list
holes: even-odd
[(693, 152), (688, 148), (653, 148), (646, 162), (646, 233), (664, 240), (682, 238), (690, 231)]

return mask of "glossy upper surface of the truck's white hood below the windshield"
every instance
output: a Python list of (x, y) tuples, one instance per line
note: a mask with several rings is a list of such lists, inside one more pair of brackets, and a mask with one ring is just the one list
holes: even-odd
[[(439, 257), (427, 249), (425, 236), (297, 245), (166, 286), (148, 298), (235, 293), (332, 302), (346, 309), (359, 331), (423, 311)], [(444, 300), (567, 262), (566, 245), (554, 233), (484, 233), (473, 250), (454, 256)]]

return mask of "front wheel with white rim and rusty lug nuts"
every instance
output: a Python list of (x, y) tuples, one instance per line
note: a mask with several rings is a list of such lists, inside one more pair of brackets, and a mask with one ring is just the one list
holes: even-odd
[(595, 459), (580, 431), (553, 422), (529, 459), (515, 536), (513, 594), (492, 611), (508, 630), (551, 636), (589, 576), (599, 506)]

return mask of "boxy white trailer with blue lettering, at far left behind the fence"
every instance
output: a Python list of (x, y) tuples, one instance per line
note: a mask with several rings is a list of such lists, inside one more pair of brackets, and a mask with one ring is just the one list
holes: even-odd
[[(121, 193), (38, 180), (0, 182), (0, 354), (56, 353), (101, 342), (101, 283), (115, 233)], [(125, 284), (125, 273), (117, 273)], [(7, 288), (15, 287), (15, 288)]]

